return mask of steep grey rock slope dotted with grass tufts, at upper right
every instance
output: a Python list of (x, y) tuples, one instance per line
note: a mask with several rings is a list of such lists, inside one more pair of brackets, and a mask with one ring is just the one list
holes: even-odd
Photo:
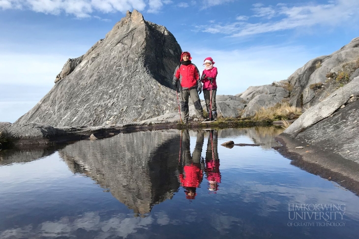
[(330, 55), (307, 62), (288, 78), (293, 88), (290, 103), (306, 110), (357, 77), (358, 55), (359, 37)]

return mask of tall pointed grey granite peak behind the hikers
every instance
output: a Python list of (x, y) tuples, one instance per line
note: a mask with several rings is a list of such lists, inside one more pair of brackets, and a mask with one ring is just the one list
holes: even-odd
[(87, 53), (69, 59), (55, 86), (16, 123), (103, 126), (176, 112), (171, 82), (180, 53), (165, 27), (127, 12)]

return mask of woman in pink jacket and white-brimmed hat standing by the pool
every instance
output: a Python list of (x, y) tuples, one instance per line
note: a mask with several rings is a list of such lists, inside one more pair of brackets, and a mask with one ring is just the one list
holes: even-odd
[(208, 112), (208, 120), (217, 119), (216, 93), (217, 93), (217, 67), (214, 67), (212, 57), (204, 60), (205, 70), (202, 72), (201, 81), (203, 83), (203, 96), (205, 97)]

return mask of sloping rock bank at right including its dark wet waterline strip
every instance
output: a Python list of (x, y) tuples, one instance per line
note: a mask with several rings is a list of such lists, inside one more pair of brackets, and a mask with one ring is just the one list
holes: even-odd
[(344, 186), (357, 191), (359, 101), (355, 97), (358, 95), (359, 77), (309, 108), (278, 135), (276, 140), (283, 145), (279, 151), (316, 174), (335, 175), (330, 178), (346, 181)]

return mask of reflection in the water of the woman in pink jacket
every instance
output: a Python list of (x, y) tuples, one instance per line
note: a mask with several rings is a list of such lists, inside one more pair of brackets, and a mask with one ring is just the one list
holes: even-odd
[(221, 173), (219, 172), (219, 159), (217, 151), (218, 133), (216, 130), (209, 131), (209, 138), (206, 151), (206, 175), (209, 182), (209, 191), (217, 191), (218, 184), (221, 182)]

